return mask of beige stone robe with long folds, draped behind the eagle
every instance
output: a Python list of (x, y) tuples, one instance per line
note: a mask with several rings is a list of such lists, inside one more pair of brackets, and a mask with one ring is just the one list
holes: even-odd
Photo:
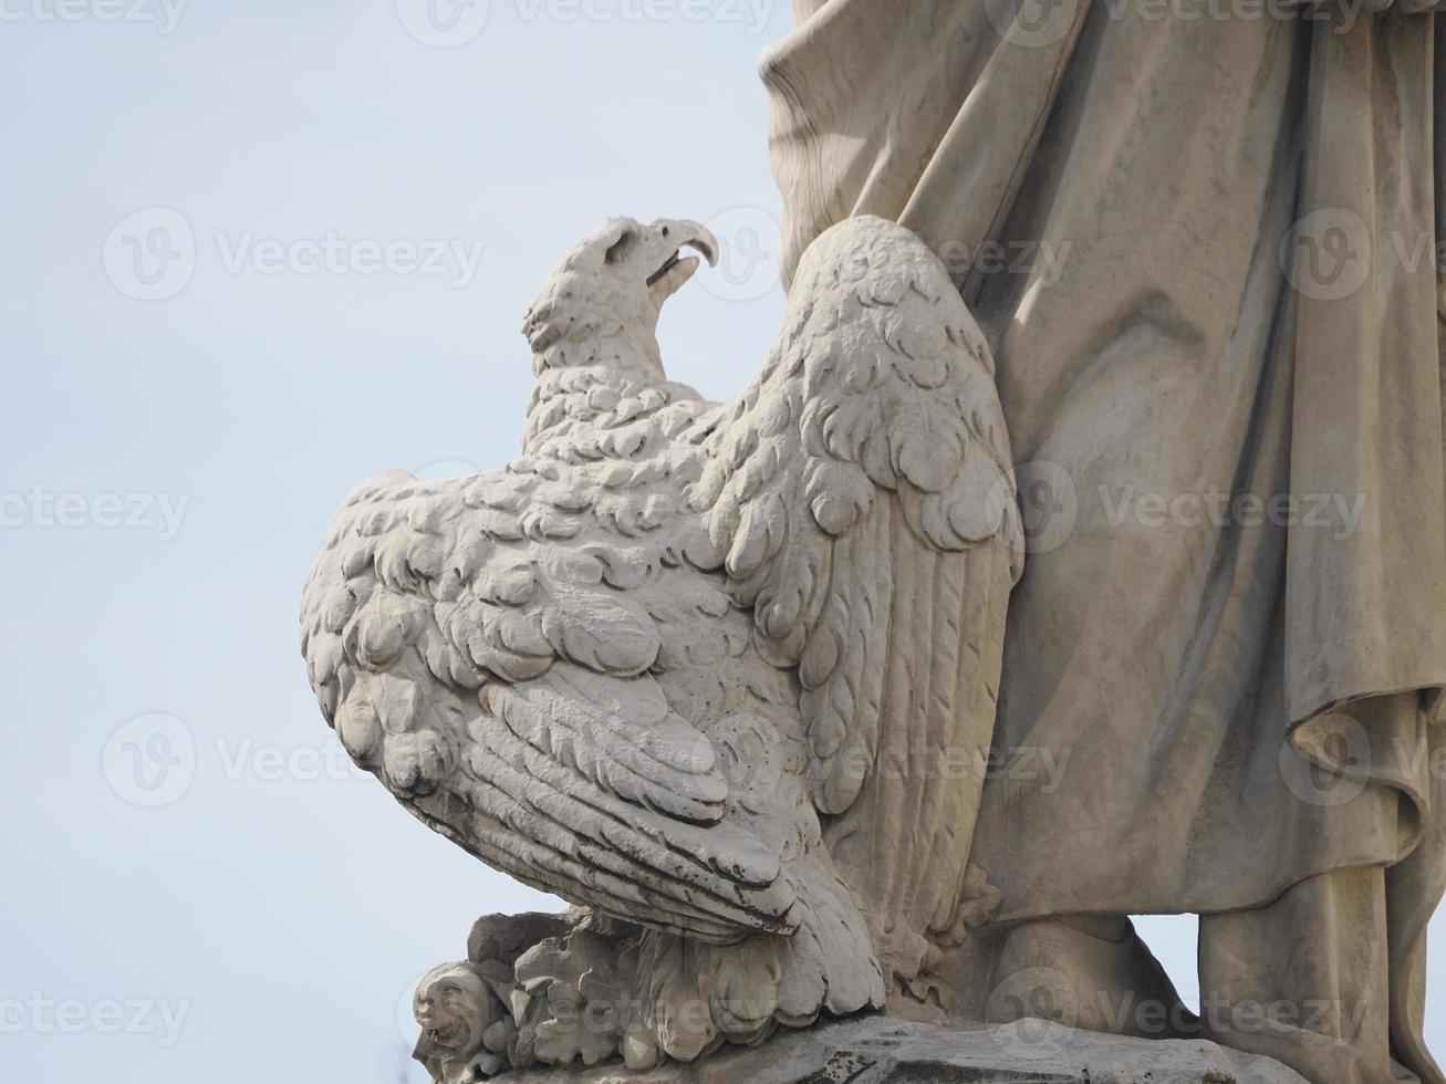
[[(1436, 16), (795, 7), (762, 68), (785, 280), (850, 214), (930, 241), (1035, 513), (975, 843), (999, 918), (1411, 856), (1446, 687)], [(1411, 945), (1442, 867), (1392, 889)]]

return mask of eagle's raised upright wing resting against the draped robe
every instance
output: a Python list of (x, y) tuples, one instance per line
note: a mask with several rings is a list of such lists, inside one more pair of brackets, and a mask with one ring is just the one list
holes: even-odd
[(690, 556), (798, 668), (834, 860), (878, 922), (947, 928), (1024, 552), (983, 334), (912, 233), (852, 218), (808, 249), (763, 371), (697, 441)]

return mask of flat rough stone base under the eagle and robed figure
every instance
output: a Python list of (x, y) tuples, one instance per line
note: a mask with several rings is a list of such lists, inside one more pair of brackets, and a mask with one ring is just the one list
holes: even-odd
[(508, 1084), (1306, 1084), (1278, 1061), (1180, 1039), (1129, 1039), (1041, 1020), (959, 1029), (884, 1016), (782, 1032), (652, 1072), (541, 1070)]

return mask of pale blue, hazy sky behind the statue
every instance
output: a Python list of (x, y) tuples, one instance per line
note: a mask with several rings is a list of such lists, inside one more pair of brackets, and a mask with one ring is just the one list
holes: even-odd
[[(357, 480), (516, 452), (522, 312), (607, 215), (714, 227), (664, 357), (752, 376), (790, 14), (432, 3), (0, 0), (6, 1080), (421, 1081), (421, 971), (555, 908), (350, 769), (302, 578)], [(1193, 996), (1194, 922), (1142, 929)]]

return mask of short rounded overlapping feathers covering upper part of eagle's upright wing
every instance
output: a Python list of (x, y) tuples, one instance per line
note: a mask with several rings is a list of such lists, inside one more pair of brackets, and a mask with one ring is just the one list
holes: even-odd
[(914, 234), (852, 218), (810, 247), (763, 371), (698, 439), (707, 538), (691, 556), (727, 572), (763, 649), (800, 666), (816, 798), (840, 814), (878, 750), (866, 675), (920, 620), (888, 603), (910, 549), (962, 562), (1002, 545), (1022, 567), (988, 344)]

